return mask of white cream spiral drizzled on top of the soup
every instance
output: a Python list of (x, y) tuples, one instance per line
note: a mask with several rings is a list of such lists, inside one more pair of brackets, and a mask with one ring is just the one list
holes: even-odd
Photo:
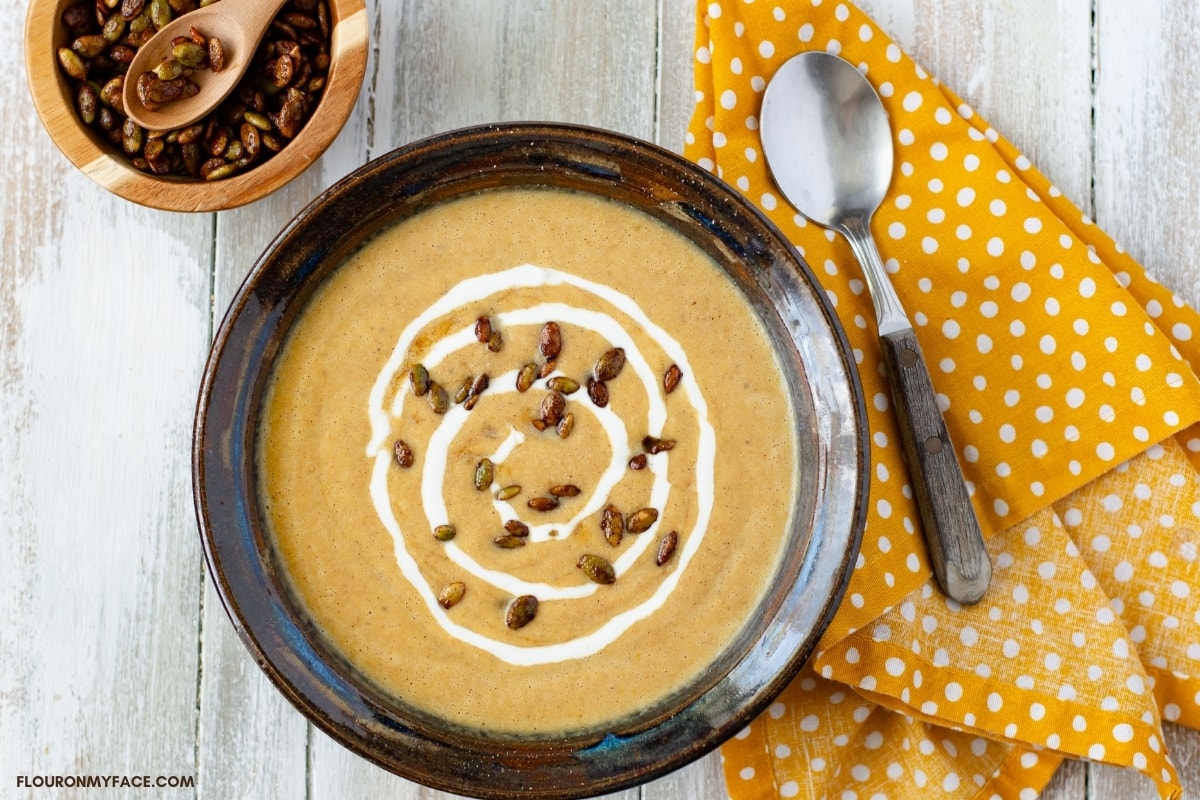
[[(592, 294), (599, 300), (611, 305), (624, 315), (634, 320), (646, 333), (654, 339), (674, 363), (683, 371), (683, 380), (678, 391), (683, 392), (688, 403), (694, 408), (697, 420), (697, 456), (695, 467), (695, 494), (696, 494), (696, 521), (691, 531), (683, 536), (683, 547), (677, 553), (676, 569), (666, 573), (662, 582), (654, 593), (641, 603), (617, 613), (611, 619), (601, 624), (594, 631), (556, 644), (527, 646), (490, 638), (476, 631), (455, 621), (451, 615), (442, 608), (437, 600), (437, 593), (421, 572), (420, 565), (409, 553), (404, 545), (406, 535), (430, 535), (430, 530), (437, 525), (449, 522), (449, 512), (444, 499), (444, 480), (446, 473), (446, 456), (450, 443), (462, 429), (467, 421), (468, 411), (462, 405), (451, 407), (440, 419), (438, 428), (434, 431), (427, 444), (427, 455), (424, 461), (421, 474), (421, 503), (427, 518), (428, 529), (402, 530), (396, 515), (392, 511), (391, 497), (388, 488), (388, 473), (391, 465), (390, 439), (392, 437), (391, 421), (398, 417), (404, 407), (406, 397), (409, 392), (396, 392), (391, 403), (388, 403), (389, 387), (394, 385), (400, 372), (412, 361), (410, 349), (413, 342), (422, 330), (436, 320), (455, 313), (456, 311), (486, 300), (490, 296), (514, 288), (540, 288), (571, 285)], [(626, 369), (631, 369), (646, 389), (649, 399), (647, 411), (646, 431), (654, 437), (662, 434), (667, 421), (666, 404), (658, 390), (658, 374), (650, 367), (644, 354), (637, 347), (634, 337), (613, 317), (587, 308), (546, 302), (528, 308), (504, 311), (493, 315), (502, 326), (516, 327), (520, 325), (540, 325), (550, 319), (570, 320), (571, 325), (586, 327), (595, 331), (613, 347), (625, 349)], [(478, 347), (472, 327), (454, 331), (436, 342), (422, 357), (422, 363), (430, 369), (436, 368), (449, 355), (466, 347)], [(516, 372), (509, 372), (491, 381), (488, 393), (516, 391)], [(580, 511), (566, 523), (535, 524), (530, 525), (529, 545), (536, 546), (550, 540), (551, 529), (562, 531), (557, 541), (570, 536), (580, 524), (588, 517), (594, 516), (605, 505), (611, 489), (625, 474), (626, 463), (631, 456), (629, 450), (629, 435), (624, 421), (607, 408), (595, 408), (589, 405), (589, 410), (595, 414), (601, 428), (605, 431), (611, 449), (611, 461), (601, 474), (595, 491), (592, 493)], [(378, 377), (371, 389), (367, 403), (367, 414), (371, 420), (371, 440), (366, 447), (366, 456), (374, 461), (371, 474), (371, 498), (376, 513), (384, 528), (391, 534), (396, 563), (404, 578), (414, 587), (434, 620), (454, 638), (486, 650), (497, 658), (518, 666), (536, 666), (582, 658), (599, 652), (612, 642), (617, 640), (638, 620), (648, 618), (661, 608), (682, 579), (689, 563), (700, 549), (708, 522), (712, 515), (714, 498), (714, 473), (716, 462), (716, 437), (708, 420), (708, 404), (700, 391), (690, 368), (688, 355), (684, 348), (671, 337), (661, 326), (656, 325), (634, 301), (612, 287), (588, 281), (569, 272), (548, 267), (523, 264), (509, 270), (481, 275), (467, 278), (442, 297), (433, 302), (421, 314), (413, 319), (401, 332), (398, 341), (386, 363), (379, 371)], [(512, 429), (508, 438), (490, 457), (494, 463), (503, 461), (520, 446), (524, 434)], [(650, 505), (655, 509), (665, 509), (672, 487), (667, 480), (667, 464), (664, 458), (652, 458), (648, 469), (654, 475), (650, 488)], [(500, 518), (517, 517), (515, 510), (505, 501), (493, 498)], [(653, 536), (638, 536), (622, 555), (616, 560), (613, 567), (618, 577), (630, 570), (646, 551), (654, 542)], [(541, 602), (547, 601), (571, 601), (587, 597), (594, 594), (600, 587), (595, 583), (580, 583), (569, 587), (558, 587), (546, 583), (534, 583), (521, 579), (503, 571), (482, 566), (467, 554), (456, 542), (445, 543), (445, 554), (461, 569), (468, 571), (476, 578), (485, 581), (493, 587), (512, 595), (532, 594)], [(652, 558), (652, 557), (650, 557)]]

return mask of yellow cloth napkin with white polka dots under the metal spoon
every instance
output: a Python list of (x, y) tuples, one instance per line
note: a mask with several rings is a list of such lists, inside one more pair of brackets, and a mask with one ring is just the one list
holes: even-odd
[[(845, 601), (802, 674), (724, 746), (730, 795), (1026, 799), (1086, 758), (1177, 796), (1162, 720), (1200, 727), (1200, 315), (848, 2), (704, 0), (696, 30), (685, 154), (814, 267), (871, 432)], [(858, 65), (892, 121), (874, 230), (991, 554), (973, 607), (931, 579), (857, 263), (763, 160), (762, 91), (805, 49)]]

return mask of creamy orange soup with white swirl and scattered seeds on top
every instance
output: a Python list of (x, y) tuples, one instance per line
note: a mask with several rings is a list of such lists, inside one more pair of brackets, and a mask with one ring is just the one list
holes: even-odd
[(496, 190), (379, 234), (264, 398), (260, 498), (322, 634), (402, 702), (553, 735), (653, 706), (772, 578), (796, 416), (762, 324), (625, 205)]

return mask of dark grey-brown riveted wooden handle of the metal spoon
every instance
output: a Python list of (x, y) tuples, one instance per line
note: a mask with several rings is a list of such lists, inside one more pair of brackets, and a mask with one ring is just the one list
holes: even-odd
[(991, 583), (991, 560), (917, 335), (907, 327), (880, 344), (934, 575), (949, 597), (976, 603)]

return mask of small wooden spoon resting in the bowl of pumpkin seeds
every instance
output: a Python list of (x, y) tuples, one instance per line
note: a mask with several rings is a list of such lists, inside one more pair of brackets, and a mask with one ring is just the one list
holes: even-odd
[[(138, 48), (125, 73), (122, 97), (126, 116), (149, 131), (170, 131), (203, 119), (241, 80), (258, 43), (263, 41), (263, 35), (284, 2), (287, 0), (223, 0), (167, 23), (154, 38)], [(220, 72), (197, 70), (192, 73), (191, 80), (200, 88), (199, 94), (163, 103), (156, 110), (146, 108), (138, 98), (138, 76), (152, 71), (169, 58), (172, 40), (187, 36), (192, 28), (206, 38), (221, 40), (226, 54), (224, 66)]]

